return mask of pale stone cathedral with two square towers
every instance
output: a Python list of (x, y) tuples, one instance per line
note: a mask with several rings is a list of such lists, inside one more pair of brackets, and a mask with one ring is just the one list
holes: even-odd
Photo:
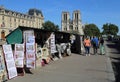
[(61, 27), (62, 27), (62, 31), (67, 31), (67, 32), (73, 31), (73, 32), (78, 32), (81, 35), (84, 35), (80, 11), (75, 10), (73, 12), (72, 20), (70, 19), (70, 13), (63, 11)]

